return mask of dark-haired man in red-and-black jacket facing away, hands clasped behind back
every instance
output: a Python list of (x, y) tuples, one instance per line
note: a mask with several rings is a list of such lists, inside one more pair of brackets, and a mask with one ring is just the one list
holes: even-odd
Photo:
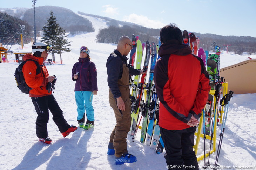
[[(159, 126), (169, 169), (195, 169), (198, 163), (194, 133), (211, 89), (203, 60), (182, 44), (182, 32), (175, 24), (160, 31), (160, 59), (154, 81), (160, 101)], [(177, 166), (174, 165), (180, 165)]]

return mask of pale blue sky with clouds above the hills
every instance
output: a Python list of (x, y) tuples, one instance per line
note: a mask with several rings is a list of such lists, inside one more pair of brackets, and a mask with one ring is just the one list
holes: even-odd
[[(32, 8), (31, 0), (8, 0), (1, 8)], [(175, 23), (181, 30), (256, 37), (256, 0), (38, 0), (73, 12), (106, 16), (148, 28)]]

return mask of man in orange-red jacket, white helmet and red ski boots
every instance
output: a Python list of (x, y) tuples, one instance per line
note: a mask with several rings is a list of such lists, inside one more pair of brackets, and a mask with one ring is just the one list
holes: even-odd
[(74, 132), (77, 129), (77, 127), (72, 124), (70, 126), (64, 119), (62, 114), (63, 111), (60, 109), (52, 95), (52, 86), (49, 86), (55, 77), (49, 76), (43, 61), (47, 59), (48, 51), (51, 50), (51, 45), (38, 42), (32, 46), (32, 52), (34, 53), (33, 56), (31, 54), (23, 56), (24, 61), (31, 59), (39, 63), (41, 67), (40, 74), (36, 74), (37, 66), (34, 61), (27, 61), (22, 68), (27, 85), (33, 88), (29, 91), (29, 97), (31, 97), (36, 113), (38, 114), (35, 122), (36, 135), (38, 136), (39, 141), (46, 144), (50, 144), (52, 142), (52, 139), (49, 138), (47, 132), (49, 110), (52, 112), (53, 121), (58, 126), (63, 137), (66, 137), (69, 133)]

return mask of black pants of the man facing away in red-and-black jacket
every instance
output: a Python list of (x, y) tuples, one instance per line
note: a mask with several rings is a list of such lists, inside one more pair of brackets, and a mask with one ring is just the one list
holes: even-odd
[(199, 170), (194, 146), (196, 127), (183, 130), (167, 130), (160, 127), (169, 170)]

